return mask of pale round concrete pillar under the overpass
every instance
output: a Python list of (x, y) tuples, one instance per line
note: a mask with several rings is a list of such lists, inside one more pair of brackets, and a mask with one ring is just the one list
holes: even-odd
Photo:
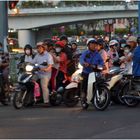
[(19, 47), (24, 48), (26, 44), (30, 44), (35, 47), (35, 32), (31, 30), (19, 30), (18, 31)]

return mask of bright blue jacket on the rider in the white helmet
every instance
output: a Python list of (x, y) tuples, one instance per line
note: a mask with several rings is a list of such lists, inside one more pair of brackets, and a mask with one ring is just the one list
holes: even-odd
[[(91, 65), (99, 65), (99, 66), (104, 65), (103, 59), (97, 51), (94, 51), (94, 52), (90, 50), (84, 51), (80, 57), (80, 64), (83, 66), (85, 62)], [(83, 67), (84, 73), (89, 74), (92, 71), (93, 69), (91, 67)]]

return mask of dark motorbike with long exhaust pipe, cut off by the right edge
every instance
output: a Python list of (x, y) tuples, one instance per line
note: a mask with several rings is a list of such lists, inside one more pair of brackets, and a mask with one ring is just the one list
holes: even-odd
[(127, 106), (135, 107), (140, 103), (140, 77), (134, 77), (132, 74), (125, 74), (123, 77), (125, 86), (122, 99)]

